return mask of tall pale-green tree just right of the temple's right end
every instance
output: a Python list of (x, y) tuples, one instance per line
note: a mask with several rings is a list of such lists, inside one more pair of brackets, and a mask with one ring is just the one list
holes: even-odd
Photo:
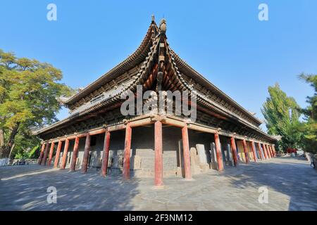
[(283, 150), (302, 147), (303, 135), (298, 131), (301, 126), (299, 105), (278, 84), (269, 86), (268, 93), (270, 96), (261, 108), (268, 134), (282, 137), (279, 145)]

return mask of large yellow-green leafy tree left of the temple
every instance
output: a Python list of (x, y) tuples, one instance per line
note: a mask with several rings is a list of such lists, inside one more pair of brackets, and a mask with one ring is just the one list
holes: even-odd
[(0, 49), (0, 158), (15, 148), (33, 148), (32, 129), (56, 122), (61, 96), (73, 90), (61, 84), (62, 72), (49, 63), (16, 58)]

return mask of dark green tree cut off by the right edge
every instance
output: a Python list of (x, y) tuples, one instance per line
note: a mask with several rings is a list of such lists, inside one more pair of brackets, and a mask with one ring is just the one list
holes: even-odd
[(317, 75), (299, 75), (300, 79), (310, 84), (315, 93), (307, 97), (309, 106), (302, 110), (305, 122), (299, 131), (304, 134), (304, 149), (311, 153), (317, 153)]

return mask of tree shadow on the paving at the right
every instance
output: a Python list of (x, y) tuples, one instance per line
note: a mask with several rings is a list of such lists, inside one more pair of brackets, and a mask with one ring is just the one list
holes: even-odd
[[(233, 171), (235, 170), (235, 171)], [(235, 188), (268, 187), (268, 201), (278, 204), (282, 193), (289, 198), (288, 210), (317, 210), (317, 171), (305, 160), (277, 158), (230, 168), (222, 174)], [(276, 197), (276, 198), (275, 198)]]

